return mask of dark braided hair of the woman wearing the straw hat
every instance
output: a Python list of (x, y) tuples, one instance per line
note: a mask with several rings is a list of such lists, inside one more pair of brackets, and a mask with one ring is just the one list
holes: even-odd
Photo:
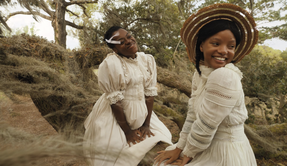
[[(203, 52), (200, 50), (200, 45), (203, 41), (205, 41), (207, 38), (209, 38), (212, 35), (217, 34), (218, 32), (224, 31), (229, 29), (236, 40), (236, 46), (235, 48), (239, 45), (241, 35), (240, 35), (240, 30), (236, 26), (236, 24), (233, 21), (226, 20), (226, 19), (218, 19), (211, 21), (204, 25), (198, 32), (198, 38), (196, 41), (196, 47), (195, 47), (195, 68), (198, 71), (198, 74), (201, 75), (201, 71), (199, 69), (199, 62), (200, 60), (204, 60)], [(231, 61), (231, 63), (234, 63), (234, 61)]]

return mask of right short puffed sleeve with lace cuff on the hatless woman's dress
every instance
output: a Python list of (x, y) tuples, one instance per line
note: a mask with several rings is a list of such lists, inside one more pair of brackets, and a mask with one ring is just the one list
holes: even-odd
[(150, 54), (147, 56), (147, 69), (148, 78), (145, 83), (145, 95), (146, 96), (157, 96), (157, 65), (155, 63), (154, 57)]

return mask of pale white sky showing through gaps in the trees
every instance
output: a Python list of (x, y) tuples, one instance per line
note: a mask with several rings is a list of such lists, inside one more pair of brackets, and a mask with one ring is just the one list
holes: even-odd
[[(6, 9), (3, 9), (3, 7), (0, 7), (0, 11), (4, 11)], [(21, 7), (16, 7), (16, 8), (11, 8), (9, 9), (9, 13), (13, 13), (15, 11), (26, 11), (22, 9)], [(66, 14), (67, 16), (68, 14)], [(101, 17), (98, 13), (95, 13), (94, 17)], [(49, 41), (54, 40), (54, 29), (51, 25), (51, 21), (45, 20), (41, 17), (39, 17), (38, 22), (33, 19), (32, 15), (22, 15), (18, 14), (13, 17), (10, 17), (9, 20), (7, 21), (7, 25), (11, 29), (17, 29), (21, 28), (24, 26), (29, 26), (29, 28), (32, 26), (32, 23), (34, 23), (35, 28), (37, 30), (36, 35), (42, 36), (43, 38), (47, 38)], [(265, 23), (261, 24), (260, 26), (274, 26), (274, 25), (280, 25), (284, 22), (276, 22), (276, 23)], [(260, 27), (258, 26), (258, 27)], [(67, 29), (70, 27), (67, 26)], [(77, 38), (74, 38), (70, 35), (67, 35), (67, 41), (66, 41), (67, 48), (72, 49), (77, 49), (81, 48), (79, 41)], [(271, 40), (266, 40), (264, 42), (264, 45), (267, 45), (269, 47), (272, 47), (273, 49), (277, 50), (287, 50), (287, 41), (280, 40), (273, 38)]]

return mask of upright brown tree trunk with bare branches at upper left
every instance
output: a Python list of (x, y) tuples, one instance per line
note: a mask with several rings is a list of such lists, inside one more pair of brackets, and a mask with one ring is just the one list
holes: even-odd
[(54, 28), (55, 43), (66, 48), (66, 6), (63, 5), (64, 0), (55, 0), (56, 12), (52, 20), (52, 27)]

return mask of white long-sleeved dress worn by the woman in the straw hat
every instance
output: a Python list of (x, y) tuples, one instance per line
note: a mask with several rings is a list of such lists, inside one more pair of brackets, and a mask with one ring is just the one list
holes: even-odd
[(180, 139), (166, 150), (178, 147), (183, 150), (181, 156), (194, 158), (186, 166), (257, 166), (244, 133), (248, 116), (242, 73), (232, 63), (216, 70), (200, 66), (200, 70), (201, 77), (197, 71), (193, 76)]

